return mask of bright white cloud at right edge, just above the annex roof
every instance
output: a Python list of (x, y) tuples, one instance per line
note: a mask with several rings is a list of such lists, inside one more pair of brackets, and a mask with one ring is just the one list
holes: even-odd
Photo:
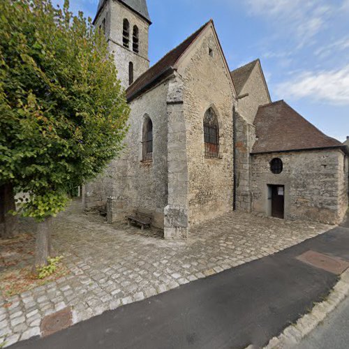
[(282, 98), (311, 98), (334, 105), (349, 105), (349, 64), (338, 70), (305, 71), (276, 86)]

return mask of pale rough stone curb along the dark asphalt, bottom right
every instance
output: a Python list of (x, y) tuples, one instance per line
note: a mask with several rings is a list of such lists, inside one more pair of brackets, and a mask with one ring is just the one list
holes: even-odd
[(295, 348), (320, 322), (325, 320), (329, 313), (349, 295), (349, 269), (341, 274), (338, 283), (334, 286), (324, 302), (315, 304), (310, 313), (299, 318), (295, 324), (286, 327), (283, 332), (272, 338), (264, 349)]

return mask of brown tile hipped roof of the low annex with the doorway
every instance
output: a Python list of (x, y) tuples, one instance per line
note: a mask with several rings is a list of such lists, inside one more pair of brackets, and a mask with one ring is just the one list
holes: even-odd
[(322, 133), (284, 101), (261, 105), (254, 124), (258, 140), (253, 145), (252, 154), (344, 148), (341, 142)]

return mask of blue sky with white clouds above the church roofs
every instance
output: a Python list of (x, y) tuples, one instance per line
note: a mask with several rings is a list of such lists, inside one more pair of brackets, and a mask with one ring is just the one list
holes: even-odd
[[(62, 0), (53, 0), (61, 3)], [(349, 0), (147, 0), (151, 65), (209, 19), (234, 70), (259, 58), (273, 101), (349, 136)], [(70, 0), (94, 18), (98, 0)]]

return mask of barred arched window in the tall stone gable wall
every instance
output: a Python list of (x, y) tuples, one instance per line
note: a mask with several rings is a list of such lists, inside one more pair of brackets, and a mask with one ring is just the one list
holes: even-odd
[(216, 113), (210, 107), (204, 117), (205, 156), (218, 158), (219, 156), (219, 127)]

